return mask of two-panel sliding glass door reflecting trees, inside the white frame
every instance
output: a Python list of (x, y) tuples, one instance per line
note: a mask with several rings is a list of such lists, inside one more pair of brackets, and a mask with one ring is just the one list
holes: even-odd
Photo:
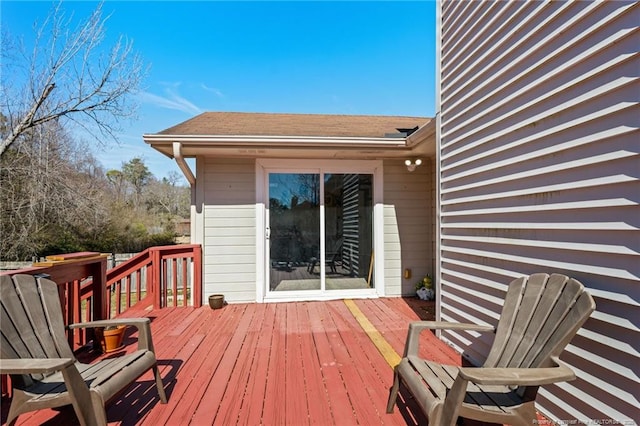
[(370, 289), (373, 175), (268, 173), (268, 291)]

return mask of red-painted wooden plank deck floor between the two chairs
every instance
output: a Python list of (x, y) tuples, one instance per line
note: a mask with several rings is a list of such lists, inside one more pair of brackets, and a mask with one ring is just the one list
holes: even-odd
[[(416, 311), (424, 313), (400, 298), (356, 305), (398, 354), (408, 323), (419, 319)], [(169, 402), (159, 403), (148, 373), (108, 404), (111, 425), (426, 424), (402, 393), (394, 413), (386, 414), (392, 368), (344, 301), (130, 310), (126, 316), (151, 318)], [(423, 339), (425, 356), (460, 362), (433, 335)], [(135, 336), (127, 343), (135, 344)], [(24, 414), (17, 424), (76, 423), (65, 408)]]

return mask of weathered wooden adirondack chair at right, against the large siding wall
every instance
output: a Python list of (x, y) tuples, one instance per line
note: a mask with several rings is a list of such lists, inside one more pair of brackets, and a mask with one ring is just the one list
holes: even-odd
[[(538, 387), (575, 379), (558, 358), (594, 309), (592, 297), (575, 279), (534, 274), (511, 282), (496, 328), (411, 323), (403, 358), (394, 370), (387, 412), (393, 412), (402, 382), (430, 425), (455, 425), (458, 417), (465, 417), (531, 426)], [(496, 334), (482, 367), (456, 367), (418, 356), (420, 332), (426, 329)]]

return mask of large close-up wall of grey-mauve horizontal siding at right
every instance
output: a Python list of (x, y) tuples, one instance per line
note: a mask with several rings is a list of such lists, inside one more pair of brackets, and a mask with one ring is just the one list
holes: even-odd
[[(578, 379), (545, 386), (538, 407), (637, 420), (638, 4), (445, 0), (439, 13), (440, 318), (494, 324), (521, 274), (579, 279), (597, 311), (562, 356)], [(491, 342), (443, 338), (476, 360)]]

